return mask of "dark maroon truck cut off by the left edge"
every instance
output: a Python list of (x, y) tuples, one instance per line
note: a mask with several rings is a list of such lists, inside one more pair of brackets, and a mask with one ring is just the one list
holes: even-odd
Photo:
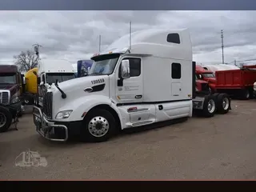
[(16, 65), (0, 65), (0, 132), (22, 115), (22, 76)]

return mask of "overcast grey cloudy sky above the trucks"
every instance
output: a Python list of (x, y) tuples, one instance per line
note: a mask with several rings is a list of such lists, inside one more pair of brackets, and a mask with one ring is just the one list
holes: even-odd
[[(221, 63), (224, 30), (225, 62), (256, 58), (255, 11), (1, 11), (0, 64), (14, 54), (42, 45), (42, 58), (64, 58), (72, 63), (88, 59), (116, 38), (133, 31), (189, 28), (194, 61)], [(127, 42), (128, 44), (129, 42)]]

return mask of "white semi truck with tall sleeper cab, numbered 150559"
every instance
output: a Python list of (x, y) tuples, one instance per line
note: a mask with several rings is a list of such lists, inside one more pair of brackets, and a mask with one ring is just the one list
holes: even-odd
[(206, 117), (230, 110), (228, 95), (196, 92), (188, 30), (130, 35), (95, 54), (89, 76), (46, 90), (43, 106), (33, 112), (39, 134), (52, 141), (78, 134), (104, 142), (117, 130), (190, 118), (194, 110)]

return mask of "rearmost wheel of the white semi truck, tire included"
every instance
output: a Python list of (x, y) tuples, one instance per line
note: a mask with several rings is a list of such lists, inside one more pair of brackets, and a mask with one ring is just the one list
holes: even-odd
[(227, 94), (218, 94), (217, 111), (218, 114), (227, 114), (230, 110), (230, 97)]

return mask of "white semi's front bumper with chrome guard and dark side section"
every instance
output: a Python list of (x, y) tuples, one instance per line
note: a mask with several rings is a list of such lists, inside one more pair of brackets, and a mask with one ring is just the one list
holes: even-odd
[(33, 119), (36, 130), (50, 141), (66, 142), (70, 136), (80, 134), (82, 122), (51, 122), (42, 114), (42, 110), (33, 107)]

